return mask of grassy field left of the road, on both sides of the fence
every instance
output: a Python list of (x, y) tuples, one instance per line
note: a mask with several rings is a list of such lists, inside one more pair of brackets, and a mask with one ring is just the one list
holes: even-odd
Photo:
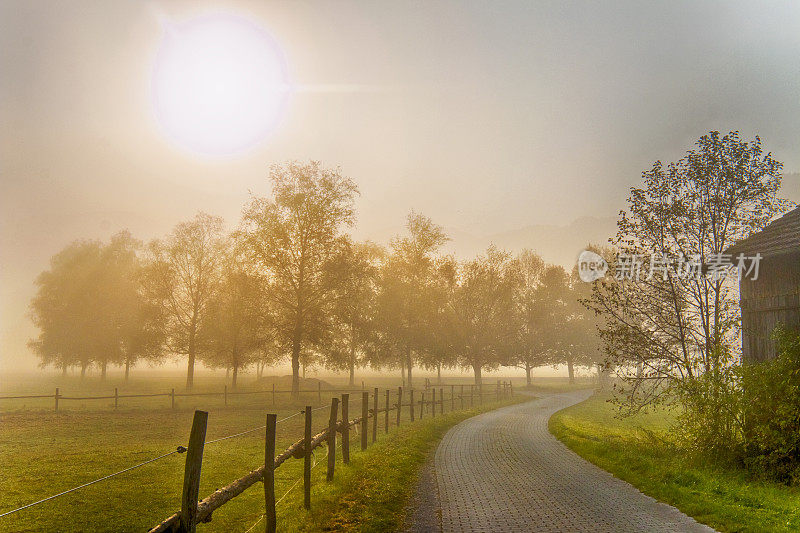
[[(195, 390), (217, 390), (218, 383), (201, 381)], [(136, 387), (146, 390), (163, 385), (140, 383)], [(351, 396), (350, 413), (355, 417), (360, 414), (359, 395)], [(52, 411), (49, 402), (43, 406), (16, 405), (0, 414), (0, 513), (185, 445), (195, 408), (209, 411), (207, 440), (213, 440), (263, 425), (268, 411), (277, 412), (281, 419), (297, 414), (305, 404), (329, 405), (329, 398), (325, 392), (321, 401), (316, 393), (306, 394), (297, 402), (284, 397), (273, 407), (268, 396), (236, 396), (224, 407), (221, 398), (190, 397), (182, 398), (175, 410), (166, 406), (167, 398), (157, 398), (159, 402), (134, 403), (117, 411), (109, 410), (108, 402), (101, 408), (95, 405), (97, 402), (82, 405), (76, 401), (59, 413)], [(477, 404), (477, 397), (475, 401)], [(366, 452), (360, 451), (357, 432), (351, 433), (351, 465), (339, 468), (338, 457), (337, 478), (332, 484), (324, 482), (326, 448), (318, 448), (316, 459), (321, 466), (313, 470), (314, 505), (310, 513), (302, 509), (301, 485), (295, 485), (302, 476), (302, 461), (287, 461), (276, 471), (276, 493), (279, 498), (286, 494), (278, 504), (279, 529), (384, 531), (400, 524), (417, 469), (431, 446), (456, 422), (497, 405), (487, 397), (483, 406), (435, 419), (427, 415), (413, 425), (407, 424), (406, 408), (406, 425), (388, 435), (384, 435), (383, 419), (379, 418), (378, 442)], [(450, 410), (449, 402), (445, 407)], [(314, 412), (315, 433), (327, 425), (327, 419), (327, 408)], [(394, 422), (394, 415), (391, 419)], [(302, 423), (302, 416), (294, 416), (278, 425), (279, 450), (302, 436)], [(201, 497), (263, 462), (263, 446), (261, 431), (209, 443), (204, 454)], [(183, 461), (183, 455), (173, 454), (0, 518), (0, 530), (147, 530), (180, 507)], [(201, 530), (247, 531), (259, 521), (263, 507), (263, 490), (257, 485), (217, 510), (213, 521), (202, 525)], [(255, 530), (262, 527), (263, 522)]]

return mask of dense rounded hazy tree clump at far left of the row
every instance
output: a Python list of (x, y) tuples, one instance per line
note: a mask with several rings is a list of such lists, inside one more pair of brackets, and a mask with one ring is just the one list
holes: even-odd
[(160, 317), (142, 293), (139, 246), (123, 231), (108, 244), (77, 241), (53, 256), (31, 301), (40, 334), (29, 344), (43, 365), (77, 365), (83, 377), (96, 364), (105, 378), (109, 364), (124, 364), (127, 378), (136, 360), (158, 356)]

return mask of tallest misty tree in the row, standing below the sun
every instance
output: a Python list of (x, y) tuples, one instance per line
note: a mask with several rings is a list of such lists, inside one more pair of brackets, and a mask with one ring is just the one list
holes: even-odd
[(238, 238), (269, 283), (280, 343), (289, 347), (292, 393), (300, 389), (300, 357), (330, 328), (337, 256), (353, 224), (355, 183), (319, 162), (270, 170), (272, 198), (245, 207)]

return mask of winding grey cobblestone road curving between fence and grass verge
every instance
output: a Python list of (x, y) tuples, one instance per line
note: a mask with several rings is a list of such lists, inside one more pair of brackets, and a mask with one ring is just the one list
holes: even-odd
[(589, 395), (554, 394), (452, 428), (434, 459), (442, 530), (713, 531), (581, 459), (550, 434), (550, 415)]

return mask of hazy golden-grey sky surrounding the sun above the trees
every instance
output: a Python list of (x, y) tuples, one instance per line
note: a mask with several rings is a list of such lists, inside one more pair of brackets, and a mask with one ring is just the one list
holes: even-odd
[[(208, 12), (271, 33), (300, 88), (235, 157), (175, 146), (153, 111), (164, 28)], [(709, 130), (758, 133), (797, 172), (799, 100), (798, 2), (2, 1), (0, 365), (61, 247), (201, 209), (234, 225), (273, 162), (340, 165), (359, 236), (411, 208), (489, 235), (614, 216)]]

